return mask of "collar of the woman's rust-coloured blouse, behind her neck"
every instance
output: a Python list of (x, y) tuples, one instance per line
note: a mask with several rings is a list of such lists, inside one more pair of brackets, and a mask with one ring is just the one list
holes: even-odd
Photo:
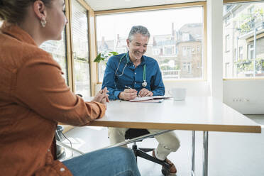
[(23, 31), (23, 29), (19, 28), (14, 24), (9, 25), (4, 22), (1, 26), (1, 32), (7, 35), (11, 35), (11, 37), (26, 42), (28, 44), (36, 45), (31, 35), (29, 35), (26, 31)]

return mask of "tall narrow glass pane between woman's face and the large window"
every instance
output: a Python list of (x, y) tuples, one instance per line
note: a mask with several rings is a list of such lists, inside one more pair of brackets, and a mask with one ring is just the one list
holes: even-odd
[(72, 1), (72, 41), (75, 72), (75, 93), (89, 97), (90, 69), (87, 10)]

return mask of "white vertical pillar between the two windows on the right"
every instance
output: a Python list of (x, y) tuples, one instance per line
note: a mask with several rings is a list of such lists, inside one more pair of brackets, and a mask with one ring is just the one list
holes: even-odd
[(223, 0), (207, 0), (207, 80), (211, 96), (223, 101)]

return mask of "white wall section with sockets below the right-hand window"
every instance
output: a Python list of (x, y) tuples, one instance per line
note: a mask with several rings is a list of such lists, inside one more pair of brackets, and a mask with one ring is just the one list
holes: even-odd
[(264, 80), (224, 81), (224, 103), (241, 114), (264, 114)]

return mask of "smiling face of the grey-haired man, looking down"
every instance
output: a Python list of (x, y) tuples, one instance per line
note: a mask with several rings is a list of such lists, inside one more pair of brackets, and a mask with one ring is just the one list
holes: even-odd
[(148, 36), (136, 33), (133, 35), (132, 41), (126, 40), (129, 49), (129, 57), (131, 61), (141, 60), (148, 46)]

